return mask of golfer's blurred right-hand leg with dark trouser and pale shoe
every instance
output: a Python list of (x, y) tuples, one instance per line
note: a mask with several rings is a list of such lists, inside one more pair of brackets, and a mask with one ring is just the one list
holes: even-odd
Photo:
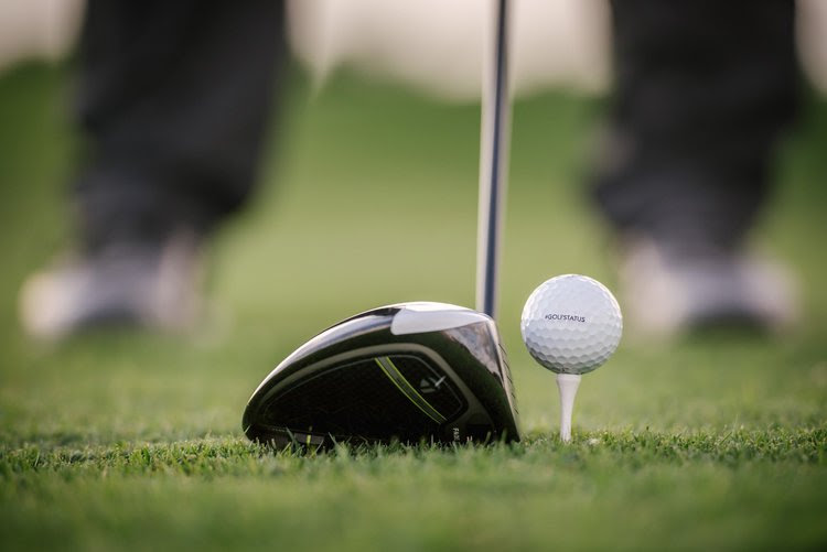
[[(615, 0), (595, 198), (623, 240), (630, 327), (783, 327), (783, 268), (744, 250), (796, 111), (792, 0)], [(657, 305), (657, 307), (653, 307)]]

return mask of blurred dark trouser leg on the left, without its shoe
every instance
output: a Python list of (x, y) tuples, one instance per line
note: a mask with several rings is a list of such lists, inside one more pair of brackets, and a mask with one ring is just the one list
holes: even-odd
[(283, 54), (278, 0), (90, 0), (75, 186), (82, 240), (163, 240), (237, 209), (256, 175)]

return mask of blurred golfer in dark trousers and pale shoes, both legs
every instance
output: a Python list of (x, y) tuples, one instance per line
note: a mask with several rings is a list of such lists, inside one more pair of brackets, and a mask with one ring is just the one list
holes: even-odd
[[(798, 104), (793, 1), (614, 0), (612, 13), (592, 183), (621, 237), (631, 322), (651, 334), (785, 324), (791, 288), (745, 241)], [(194, 324), (200, 252), (254, 188), (284, 51), (281, 1), (89, 0), (77, 248), (25, 282), (31, 335)]]

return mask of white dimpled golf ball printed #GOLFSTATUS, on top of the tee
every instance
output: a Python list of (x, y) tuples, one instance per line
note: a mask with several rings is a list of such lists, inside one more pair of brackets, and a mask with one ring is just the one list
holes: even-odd
[(539, 364), (558, 374), (586, 374), (617, 348), (623, 317), (602, 283), (565, 274), (534, 290), (523, 307), (519, 329)]

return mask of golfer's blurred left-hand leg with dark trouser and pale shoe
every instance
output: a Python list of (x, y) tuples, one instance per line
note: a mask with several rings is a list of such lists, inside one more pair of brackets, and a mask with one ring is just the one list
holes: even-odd
[(283, 53), (273, 0), (90, 0), (74, 187), (80, 255), (32, 275), (34, 337), (193, 327), (204, 235), (248, 197)]

